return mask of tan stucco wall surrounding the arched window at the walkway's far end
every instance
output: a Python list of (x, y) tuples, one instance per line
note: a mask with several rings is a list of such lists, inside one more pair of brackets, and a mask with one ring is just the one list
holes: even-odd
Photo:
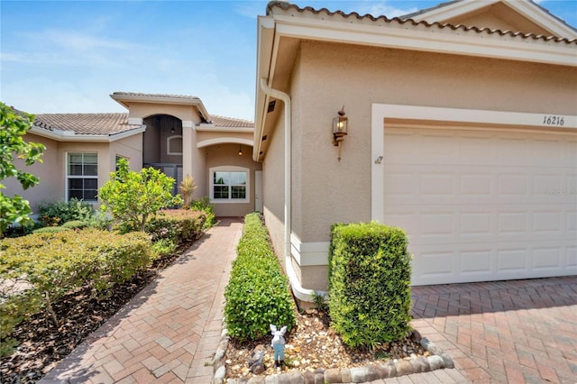
[[(201, 148), (206, 155), (206, 170), (214, 167), (231, 166), (250, 169), (249, 202), (239, 204), (215, 204), (217, 216), (243, 216), (254, 210), (254, 171), (261, 170), (261, 163), (252, 161), (252, 147), (243, 147), (243, 155), (238, 154), (238, 144), (221, 144)], [(206, 172), (206, 185), (209, 185), (210, 175)]]

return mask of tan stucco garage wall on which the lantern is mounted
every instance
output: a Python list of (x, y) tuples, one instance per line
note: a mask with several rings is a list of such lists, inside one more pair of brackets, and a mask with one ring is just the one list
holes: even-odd
[[(577, 69), (569, 67), (316, 41), (303, 41), (297, 60), (290, 83), (292, 232), (301, 242), (328, 242), (334, 223), (371, 220), (372, 103), (576, 114)], [(339, 162), (331, 123), (343, 105), (349, 134)], [(281, 128), (279, 119), (274, 140)], [(265, 178), (282, 173), (281, 153), (268, 151)], [(276, 212), (270, 193), (266, 187), (265, 205)], [(271, 228), (273, 239), (278, 231)], [(325, 279), (318, 267), (298, 274), (304, 288)]]

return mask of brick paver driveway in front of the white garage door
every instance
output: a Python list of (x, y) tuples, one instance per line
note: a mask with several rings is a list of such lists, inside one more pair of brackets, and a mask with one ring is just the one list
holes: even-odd
[(412, 290), (413, 325), (471, 381), (577, 383), (577, 277)]

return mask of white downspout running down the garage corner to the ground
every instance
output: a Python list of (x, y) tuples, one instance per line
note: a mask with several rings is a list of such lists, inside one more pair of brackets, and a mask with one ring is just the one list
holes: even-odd
[[(292, 256), (290, 253), (290, 233), (292, 232), (292, 222), (291, 222), (291, 189), (292, 189), (292, 178), (291, 178), (291, 117), (290, 117), (290, 96), (278, 89), (273, 89), (267, 85), (264, 78), (261, 78), (261, 89), (268, 96), (272, 96), (279, 100), (282, 100), (285, 105), (285, 233), (284, 233), (284, 253), (285, 253), (285, 269), (287, 270), (287, 276), (289, 276), (290, 287), (292, 292), (299, 300), (311, 303), (313, 301), (313, 294), (315, 293), (312, 289), (303, 288), (297, 278), (297, 273), (292, 267)], [(318, 292), (324, 293), (324, 292)]]

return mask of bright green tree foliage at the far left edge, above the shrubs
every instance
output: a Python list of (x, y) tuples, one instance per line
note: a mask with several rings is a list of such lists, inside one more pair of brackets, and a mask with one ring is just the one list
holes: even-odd
[[(32, 128), (34, 116), (19, 113), (13, 108), (0, 103), (0, 180), (17, 178), (23, 189), (33, 187), (40, 182), (40, 178), (18, 169), (15, 159), (23, 160), (26, 166), (41, 160), (44, 145), (35, 142), (24, 142), (23, 136)], [(0, 183), (0, 189), (5, 185)], [(30, 222), (32, 214), (30, 203), (23, 197), (14, 194), (8, 197), (0, 192), (0, 237), (10, 224)]]

